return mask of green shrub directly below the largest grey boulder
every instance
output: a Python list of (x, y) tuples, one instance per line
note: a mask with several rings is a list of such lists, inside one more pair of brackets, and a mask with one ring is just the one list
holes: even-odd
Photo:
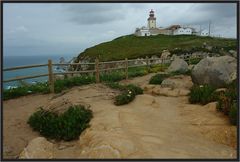
[(216, 101), (216, 90), (215, 87), (210, 85), (194, 85), (190, 90), (190, 103), (200, 103), (200, 104), (207, 104), (212, 101)]

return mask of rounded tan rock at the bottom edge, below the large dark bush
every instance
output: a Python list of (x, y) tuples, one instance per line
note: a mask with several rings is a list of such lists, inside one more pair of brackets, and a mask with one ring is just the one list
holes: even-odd
[(31, 140), (19, 155), (20, 159), (51, 159), (53, 158), (53, 143), (44, 137)]

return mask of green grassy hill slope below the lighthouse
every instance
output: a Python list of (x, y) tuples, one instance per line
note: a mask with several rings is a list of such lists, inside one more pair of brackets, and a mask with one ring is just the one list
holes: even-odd
[[(109, 42), (104, 42), (96, 46), (87, 48), (80, 53), (78, 59), (90, 57), (91, 60), (99, 57), (101, 61), (121, 60), (125, 58), (133, 59), (138, 57), (151, 57), (152, 55), (160, 56), (165, 49), (171, 53), (184, 53), (199, 50), (203, 43), (214, 47), (211, 52), (219, 52), (221, 48), (225, 51), (237, 48), (236, 39), (200, 37), (193, 35), (157, 35), (149, 37), (137, 37), (126, 35), (116, 38)], [(176, 49), (177, 48), (177, 49)]]

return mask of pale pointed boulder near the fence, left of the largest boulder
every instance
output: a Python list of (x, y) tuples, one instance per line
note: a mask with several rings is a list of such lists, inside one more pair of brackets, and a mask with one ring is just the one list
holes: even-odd
[(181, 71), (181, 72), (188, 71), (187, 62), (184, 61), (183, 59), (176, 58), (168, 68), (168, 72), (174, 72), (174, 71)]

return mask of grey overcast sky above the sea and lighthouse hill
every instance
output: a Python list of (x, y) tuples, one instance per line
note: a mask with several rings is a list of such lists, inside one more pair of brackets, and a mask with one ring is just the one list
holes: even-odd
[(4, 55), (77, 55), (84, 49), (147, 26), (195, 25), (236, 38), (234, 3), (4, 3)]

